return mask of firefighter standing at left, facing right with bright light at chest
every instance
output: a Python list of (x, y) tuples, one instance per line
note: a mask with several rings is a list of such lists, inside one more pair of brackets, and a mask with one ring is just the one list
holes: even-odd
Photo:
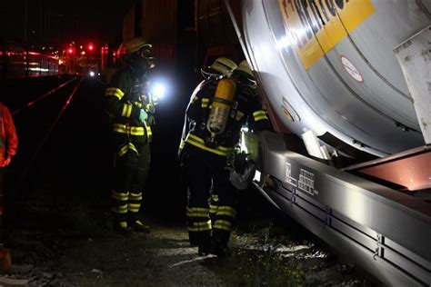
[(115, 153), (114, 188), (111, 192), (116, 228), (122, 233), (148, 232), (136, 216), (150, 164), (151, 119), (147, 72), (155, 66), (151, 45), (136, 37), (125, 44), (124, 64), (105, 90), (105, 111), (112, 115)]

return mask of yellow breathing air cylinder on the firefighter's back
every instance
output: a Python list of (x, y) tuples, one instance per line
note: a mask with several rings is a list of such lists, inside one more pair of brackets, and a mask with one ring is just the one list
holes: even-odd
[(206, 129), (211, 133), (212, 141), (217, 134), (225, 131), (230, 109), (234, 104), (235, 91), (236, 84), (230, 79), (222, 79), (217, 84), (216, 95), (206, 123)]

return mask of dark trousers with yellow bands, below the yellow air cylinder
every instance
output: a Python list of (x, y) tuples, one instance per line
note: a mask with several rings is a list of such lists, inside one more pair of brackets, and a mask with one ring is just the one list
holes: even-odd
[(236, 223), (236, 189), (226, 156), (185, 144), (186, 218), (193, 246), (226, 246)]

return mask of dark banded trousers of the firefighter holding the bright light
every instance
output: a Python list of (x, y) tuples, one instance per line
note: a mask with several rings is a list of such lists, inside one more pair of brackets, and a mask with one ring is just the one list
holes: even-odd
[(121, 145), (115, 151), (112, 211), (121, 227), (137, 221), (150, 165), (150, 143)]

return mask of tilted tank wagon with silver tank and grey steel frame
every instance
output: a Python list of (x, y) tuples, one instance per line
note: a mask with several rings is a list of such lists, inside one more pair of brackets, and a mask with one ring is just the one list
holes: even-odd
[(278, 132), (256, 187), (382, 282), (431, 284), (431, 1), (232, 2)]

